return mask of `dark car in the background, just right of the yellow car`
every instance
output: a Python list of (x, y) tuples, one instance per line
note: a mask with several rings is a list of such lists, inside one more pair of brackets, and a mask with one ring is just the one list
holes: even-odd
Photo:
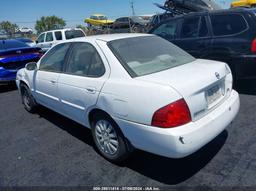
[(122, 17), (115, 20), (112, 25), (113, 29), (129, 29), (134, 30), (145, 27), (149, 21), (146, 21), (138, 16)]

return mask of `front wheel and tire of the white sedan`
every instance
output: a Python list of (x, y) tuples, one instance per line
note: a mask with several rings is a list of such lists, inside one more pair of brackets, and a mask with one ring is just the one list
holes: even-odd
[(24, 108), (28, 112), (34, 113), (37, 108), (37, 103), (36, 103), (35, 99), (33, 98), (30, 89), (25, 84), (21, 84), (20, 90), (21, 90), (21, 99), (22, 99)]

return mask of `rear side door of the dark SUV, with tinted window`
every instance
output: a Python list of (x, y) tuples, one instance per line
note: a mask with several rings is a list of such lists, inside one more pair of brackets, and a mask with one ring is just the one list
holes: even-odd
[(211, 36), (207, 17), (193, 16), (182, 20), (180, 34), (175, 44), (196, 58), (207, 57)]

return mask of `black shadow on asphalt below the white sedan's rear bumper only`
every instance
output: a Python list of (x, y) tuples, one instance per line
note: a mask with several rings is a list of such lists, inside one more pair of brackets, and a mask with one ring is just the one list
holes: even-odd
[(182, 159), (170, 159), (137, 151), (126, 166), (146, 177), (168, 185), (177, 185), (204, 168), (226, 142), (225, 130), (196, 153)]

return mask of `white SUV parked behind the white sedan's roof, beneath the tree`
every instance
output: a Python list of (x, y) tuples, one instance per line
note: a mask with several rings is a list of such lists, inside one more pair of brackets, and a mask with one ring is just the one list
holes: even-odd
[(72, 38), (80, 38), (85, 37), (86, 34), (82, 29), (75, 28), (67, 28), (67, 29), (59, 29), (46, 31), (41, 33), (36, 40), (36, 47), (41, 48), (44, 52), (48, 51), (53, 45), (69, 40)]

